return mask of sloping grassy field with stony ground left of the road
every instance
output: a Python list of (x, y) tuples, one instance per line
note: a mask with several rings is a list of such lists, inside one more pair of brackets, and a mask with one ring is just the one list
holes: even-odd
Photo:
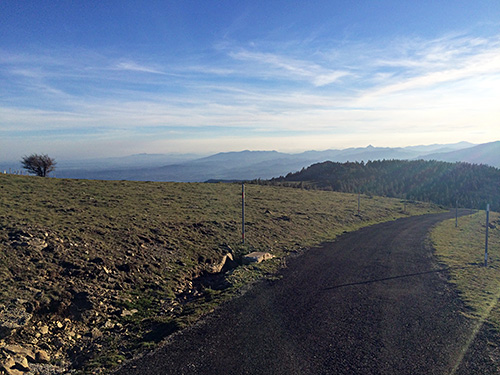
[[(361, 196), (358, 215), (356, 195), (247, 185), (243, 245), (238, 184), (0, 175), (0, 315), (27, 314), (0, 347), (43, 347), (54, 364), (106, 372), (274, 277), (288, 254), (437, 210)], [(210, 274), (224, 254), (251, 251), (275, 258)]]

